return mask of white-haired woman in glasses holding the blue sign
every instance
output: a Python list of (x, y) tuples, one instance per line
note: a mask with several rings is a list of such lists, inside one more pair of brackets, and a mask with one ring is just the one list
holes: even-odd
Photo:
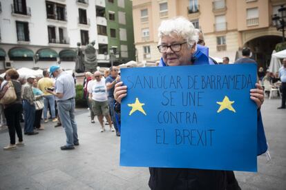
[[(162, 21), (159, 27), (158, 50), (162, 54), (161, 66), (211, 64), (202, 45), (197, 45), (198, 32), (193, 24), (182, 17)], [(191, 68), (190, 68), (191, 69)], [(261, 107), (264, 96), (262, 87), (256, 84), (250, 98)], [(115, 85), (117, 103), (126, 96), (127, 87), (122, 82)], [(115, 106), (116, 108), (116, 106)], [(179, 168), (150, 168), (151, 189), (227, 189), (226, 171)]]

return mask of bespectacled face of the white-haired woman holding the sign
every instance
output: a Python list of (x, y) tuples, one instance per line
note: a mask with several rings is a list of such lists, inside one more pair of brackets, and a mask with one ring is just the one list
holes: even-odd
[(162, 58), (164, 63), (169, 66), (178, 66), (178, 65), (191, 65), (191, 56), (193, 52), (196, 50), (195, 47), (189, 48), (186, 39), (182, 39), (178, 35), (174, 36), (162, 36), (161, 44), (160, 45), (173, 45), (173, 44), (180, 44), (181, 50), (179, 52), (173, 52), (170, 47), (166, 50), (165, 53), (162, 53)]

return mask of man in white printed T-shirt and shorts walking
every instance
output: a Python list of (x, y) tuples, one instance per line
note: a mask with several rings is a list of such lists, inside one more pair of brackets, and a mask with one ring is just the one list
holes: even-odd
[(109, 124), (110, 131), (115, 131), (112, 127), (111, 116), (109, 115), (105, 79), (102, 78), (102, 74), (99, 71), (94, 73), (94, 78), (94, 81), (89, 82), (90, 85), (88, 88), (88, 98), (90, 100), (93, 113), (95, 114), (95, 116), (97, 116), (97, 119), (102, 127), (100, 131), (105, 131), (103, 120), (104, 116)]

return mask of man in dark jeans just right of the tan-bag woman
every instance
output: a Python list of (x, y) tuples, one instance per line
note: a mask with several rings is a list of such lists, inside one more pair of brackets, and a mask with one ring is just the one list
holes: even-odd
[[(39, 132), (34, 131), (34, 122), (35, 122), (35, 96), (32, 93), (32, 83), (35, 80), (35, 76), (28, 75), (27, 83), (23, 85), (22, 88), (22, 97), (23, 97), (23, 112), (25, 118), (25, 125), (24, 125), (24, 134), (26, 135), (36, 135)], [(41, 96), (39, 96), (40, 98)]]

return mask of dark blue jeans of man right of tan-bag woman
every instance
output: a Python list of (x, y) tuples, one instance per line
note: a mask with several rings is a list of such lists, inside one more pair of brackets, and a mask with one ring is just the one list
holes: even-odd
[(25, 118), (24, 132), (32, 133), (34, 131), (34, 122), (35, 122), (35, 105), (30, 104), (28, 101), (23, 100), (23, 112)]

